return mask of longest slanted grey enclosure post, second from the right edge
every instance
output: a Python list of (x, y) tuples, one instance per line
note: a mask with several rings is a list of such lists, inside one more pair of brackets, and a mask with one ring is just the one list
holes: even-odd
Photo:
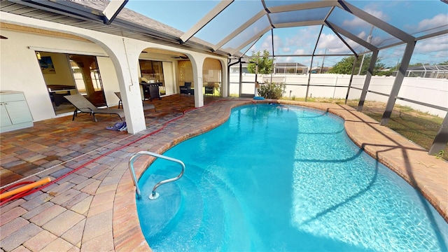
[(397, 76), (393, 81), (393, 86), (391, 90), (391, 94), (389, 95), (389, 99), (387, 100), (386, 109), (383, 113), (383, 117), (381, 118), (380, 125), (387, 125), (389, 119), (391, 119), (393, 106), (395, 106), (395, 100), (397, 99), (398, 92), (400, 92), (401, 83), (405, 78), (405, 73), (407, 70), (407, 66), (409, 66), (409, 62), (411, 61), (412, 52), (414, 52), (415, 41), (408, 42), (405, 48), (405, 53), (403, 54), (400, 68), (398, 69)]

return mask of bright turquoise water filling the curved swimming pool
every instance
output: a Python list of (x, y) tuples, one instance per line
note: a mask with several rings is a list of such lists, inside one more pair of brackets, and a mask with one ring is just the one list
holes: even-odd
[(323, 111), (251, 105), (164, 155), (141, 177), (154, 251), (447, 251), (448, 225)]

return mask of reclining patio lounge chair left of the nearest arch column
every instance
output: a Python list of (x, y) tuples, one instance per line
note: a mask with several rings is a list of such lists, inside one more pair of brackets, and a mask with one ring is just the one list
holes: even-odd
[(97, 118), (95, 118), (95, 114), (97, 113), (115, 114), (122, 121), (123, 118), (125, 118), (125, 111), (123, 111), (123, 109), (98, 109), (92, 104), (92, 102), (89, 102), (89, 100), (87, 100), (81, 94), (71, 94), (64, 97), (76, 108), (73, 112), (73, 118), (71, 120), (75, 120), (75, 117), (78, 116), (78, 113), (90, 113), (93, 116), (93, 120), (95, 122), (97, 122)]

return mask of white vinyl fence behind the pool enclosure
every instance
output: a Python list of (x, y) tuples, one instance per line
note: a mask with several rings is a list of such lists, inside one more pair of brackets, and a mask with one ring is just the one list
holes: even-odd
[[(271, 82), (270, 75), (258, 75), (259, 83), (265, 81)], [(365, 76), (353, 76), (351, 82), (352, 87), (363, 88)], [(372, 76), (370, 80), (369, 89), (373, 92), (367, 92), (367, 101), (387, 102), (388, 97), (381, 94), (389, 94), (392, 89), (393, 76)], [(345, 99), (347, 87), (349, 86), (350, 76), (343, 74), (311, 74), (310, 87), (308, 97)], [(286, 92), (283, 97), (303, 98), (307, 93), (308, 76), (306, 75), (279, 75), (272, 76), (273, 83), (286, 83)], [(327, 85), (330, 87), (312, 86), (312, 85)], [(254, 94), (255, 91), (255, 74), (246, 73), (242, 76), (241, 93)], [(379, 92), (381, 94), (375, 94)], [(351, 88), (349, 99), (359, 99), (361, 90)], [(230, 74), (230, 94), (239, 94), (239, 74)], [(432, 104), (448, 107), (448, 79), (441, 78), (419, 78), (419, 77), (405, 77), (398, 93), (398, 97), (405, 99), (412, 99), (416, 102)], [(423, 112), (428, 112), (432, 115), (444, 118), (447, 111), (440, 109), (433, 109), (428, 106), (415, 104), (412, 102), (405, 102), (397, 99), (396, 104), (409, 106)]]

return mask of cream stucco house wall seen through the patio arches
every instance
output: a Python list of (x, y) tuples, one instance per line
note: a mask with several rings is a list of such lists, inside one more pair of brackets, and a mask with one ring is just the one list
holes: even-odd
[[(2, 30), (2, 36), (8, 39), (0, 41), (0, 90), (17, 90), (25, 92), (34, 121), (55, 118), (45, 80), (48, 84), (74, 85), (69, 69), (61, 69), (61, 57), (65, 53), (97, 56), (99, 71), (102, 76), (104, 94), (109, 106), (118, 104), (114, 92), (120, 91), (116, 69), (111, 58), (97, 44), (71, 38), (59, 38), (22, 31)], [(148, 43), (148, 48), (154, 47)], [(31, 49), (30, 49), (31, 48)], [(36, 51), (41, 56), (51, 56), (55, 64), (55, 74), (43, 74), (38, 64)], [(48, 51), (50, 53), (46, 53)], [(194, 53), (195, 55), (197, 52)], [(142, 54), (141, 59), (160, 60), (164, 65), (167, 94), (178, 92), (176, 85), (176, 60), (169, 55), (151, 53)], [(135, 62), (138, 67), (138, 62)], [(66, 66), (68, 66), (66, 64)]]

